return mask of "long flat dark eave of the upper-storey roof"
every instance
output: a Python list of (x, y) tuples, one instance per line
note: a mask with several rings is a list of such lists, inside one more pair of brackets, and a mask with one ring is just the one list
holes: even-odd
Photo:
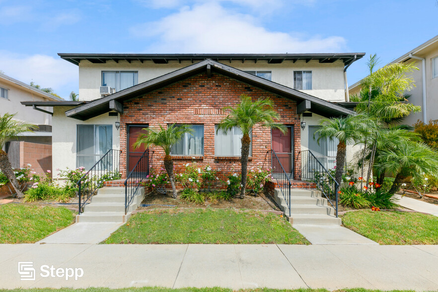
[[(91, 63), (106, 63), (107, 61), (152, 61), (156, 64), (167, 64), (169, 61), (203, 61), (212, 59), (219, 61), (268, 61), (279, 64), (283, 61), (318, 60), (320, 63), (333, 63), (342, 60), (345, 65), (353, 63), (365, 56), (365, 53), (328, 53), (328, 54), (71, 54), (58, 53), (62, 59), (79, 65), (80, 61), (87, 60)], [(356, 56), (356, 58), (355, 58)]]

